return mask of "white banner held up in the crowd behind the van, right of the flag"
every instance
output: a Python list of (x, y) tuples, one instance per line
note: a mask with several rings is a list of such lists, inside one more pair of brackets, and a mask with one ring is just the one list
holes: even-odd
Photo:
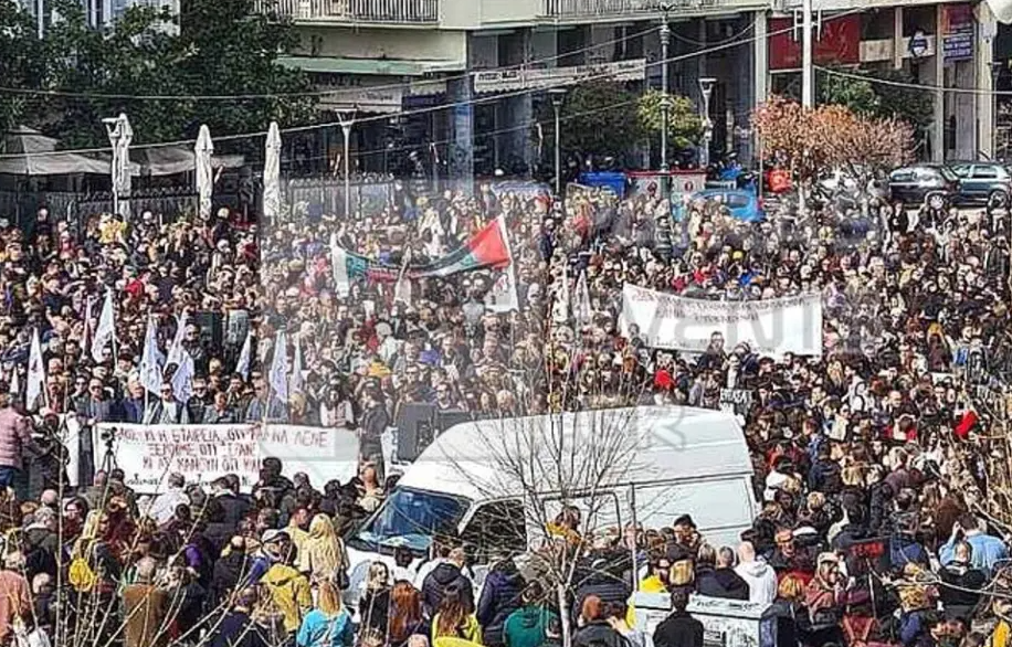
[(759, 354), (821, 357), (822, 297), (710, 301), (625, 284), (619, 327), (652, 348), (703, 352), (719, 333), (726, 350), (745, 342)]

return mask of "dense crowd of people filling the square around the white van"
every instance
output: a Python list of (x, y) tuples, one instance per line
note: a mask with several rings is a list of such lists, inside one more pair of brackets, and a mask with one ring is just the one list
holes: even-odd
[[(761, 604), (776, 628), (761, 641), (778, 647), (1008, 645), (1009, 528), (993, 501), (1008, 501), (1010, 456), (999, 412), (979, 402), (1008, 359), (1008, 216), (827, 208), (747, 224), (713, 202), (688, 204), (679, 222), (670, 213), (653, 194), (584, 189), (554, 202), (483, 187), (354, 218), (310, 205), (262, 230), (226, 210), (172, 223), (105, 215), (76, 238), (44, 209), (3, 226), (0, 478), (13, 487), (0, 492), (0, 644), (696, 647), (703, 626), (686, 609), (710, 596)], [(331, 235), (403, 267), (444, 257), (499, 216), (516, 310), (486, 307), (502, 271), (410, 289), (358, 279), (339, 296)], [(581, 276), (587, 308), (569, 294)], [(620, 333), (626, 283), (699, 299), (820, 293), (823, 353), (763, 357), (720, 336), (694, 356), (649, 348)], [(107, 289), (116, 342), (93, 352)], [(180, 402), (169, 371), (146, 393), (140, 364), (148, 317), (168, 353), (183, 312), (196, 372)], [(259, 339), (239, 372), (245, 333), (223, 324), (232, 320)], [(35, 330), (46, 383), (30, 420), (10, 384), (29, 376)], [(303, 367), (284, 402), (268, 378), (278, 330)], [(565, 607), (556, 583), (515, 554), (497, 555), (475, 591), (474, 554), (452, 533), (421, 566), (398, 551), (397, 568), (377, 562), (348, 591), (341, 537), (397, 487), (376, 455), (404, 404), (475, 416), (716, 409), (729, 383), (753, 393), (739, 413), (760, 509), (739, 544), (708, 543), (692, 510), (624, 532), (563, 515), (558, 550), (577, 564)], [(87, 487), (67, 491), (59, 438), (71, 413), (86, 426), (345, 427), (365, 459), (346, 484), (309, 482), (265, 459), (252, 492), (234, 477), (203, 491), (172, 475), (166, 491), (141, 497), (120, 470), (96, 469), (85, 443)], [(634, 622), (634, 590), (671, 597), (652, 632)]]

